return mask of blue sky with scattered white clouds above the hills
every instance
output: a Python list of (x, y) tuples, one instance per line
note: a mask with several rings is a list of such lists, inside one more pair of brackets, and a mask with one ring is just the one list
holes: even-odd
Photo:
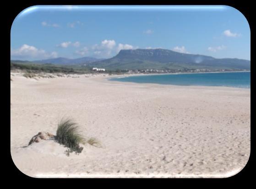
[(136, 48), (250, 60), (251, 32), (230, 6), (33, 6), (11, 27), (11, 59), (111, 58)]

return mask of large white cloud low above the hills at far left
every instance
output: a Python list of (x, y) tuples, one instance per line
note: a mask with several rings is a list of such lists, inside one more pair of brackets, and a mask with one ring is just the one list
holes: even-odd
[(57, 52), (47, 53), (43, 49), (38, 49), (34, 46), (27, 44), (22, 45), (20, 48), (11, 49), (11, 57), (13, 58), (56, 58)]

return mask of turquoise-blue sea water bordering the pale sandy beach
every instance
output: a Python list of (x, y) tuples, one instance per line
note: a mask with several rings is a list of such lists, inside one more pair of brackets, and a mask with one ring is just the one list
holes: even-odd
[(113, 81), (251, 88), (251, 72), (178, 73), (112, 78)]

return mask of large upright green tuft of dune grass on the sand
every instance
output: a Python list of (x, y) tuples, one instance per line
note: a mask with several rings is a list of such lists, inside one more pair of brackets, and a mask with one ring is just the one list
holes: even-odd
[(79, 143), (85, 143), (85, 139), (78, 131), (79, 127), (71, 119), (61, 119), (58, 124), (55, 139), (60, 143), (69, 147), (71, 152), (81, 153), (83, 147)]

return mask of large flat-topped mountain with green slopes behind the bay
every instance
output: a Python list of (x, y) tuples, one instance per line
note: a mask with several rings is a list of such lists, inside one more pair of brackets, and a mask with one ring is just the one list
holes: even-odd
[(121, 50), (113, 58), (94, 62), (91, 65), (108, 69), (250, 69), (251, 61), (213, 58), (167, 49), (136, 49)]

